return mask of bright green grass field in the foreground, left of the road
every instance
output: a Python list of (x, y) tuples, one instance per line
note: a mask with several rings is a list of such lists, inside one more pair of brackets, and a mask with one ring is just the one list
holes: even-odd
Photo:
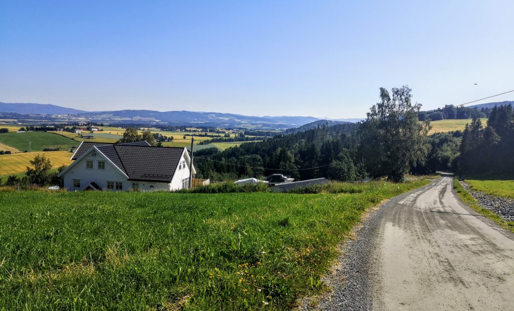
[[(337, 194), (3, 192), (5, 309), (291, 309), (362, 213), (427, 184)], [(343, 187), (344, 188), (344, 187)]]

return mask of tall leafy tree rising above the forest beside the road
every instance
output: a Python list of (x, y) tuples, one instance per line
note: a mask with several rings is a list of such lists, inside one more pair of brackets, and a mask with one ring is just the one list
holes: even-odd
[(418, 121), (421, 104), (411, 102), (411, 89), (393, 88), (392, 96), (380, 88), (380, 102), (371, 107), (359, 127), (360, 155), (375, 177), (402, 181), (411, 166), (425, 161), (430, 146), (430, 121)]

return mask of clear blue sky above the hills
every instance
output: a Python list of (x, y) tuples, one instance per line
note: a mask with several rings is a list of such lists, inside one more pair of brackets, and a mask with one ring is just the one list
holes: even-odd
[(360, 118), (379, 87), (407, 84), (426, 109), (460, 104), (514, 89), (512, 12), (508, 0), (3, 0), (0, 101)]

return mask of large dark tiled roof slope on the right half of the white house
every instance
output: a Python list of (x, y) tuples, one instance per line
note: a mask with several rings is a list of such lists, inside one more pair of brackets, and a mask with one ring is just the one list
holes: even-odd
[(183, 148), (115, 144), (114, 149), (130, 180), (170, 182)]

